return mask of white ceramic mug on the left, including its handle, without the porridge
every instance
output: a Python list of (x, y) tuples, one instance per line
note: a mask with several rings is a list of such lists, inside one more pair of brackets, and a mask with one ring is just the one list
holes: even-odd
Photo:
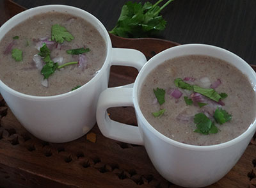
[(67, 12), (95, 26), (107, 47), (105, 62), (93, 79), (81, 88), (51, 97), (36, 97), (19, 93), (0, 81), (0, 92), (13, 114), (34, 136), (49, 142), (62, 143), (83, 136), (96, 122), (96, 107), (101, 91), (108, 88), (111, 65), (143, 67), (147, 59), (133, 49), (113, 49), (102, 23), (92, 14), (64, 5), (39, 6), (26, 10), (0, 27), (0, 40), (12, 27), (23, 20), (45, 12)]

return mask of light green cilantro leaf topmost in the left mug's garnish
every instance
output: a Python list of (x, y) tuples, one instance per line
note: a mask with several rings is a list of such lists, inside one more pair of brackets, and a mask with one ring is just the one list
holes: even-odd
[(58, 43), (63, 43), (64, 40), (70, 42), (74, 39), (65, 27), (55, 24), (52, 26), (52, 40), (55, 40)]

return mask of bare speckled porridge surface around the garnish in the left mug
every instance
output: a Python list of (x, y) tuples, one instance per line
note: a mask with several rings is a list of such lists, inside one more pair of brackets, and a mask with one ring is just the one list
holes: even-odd
[[(71, 42), (63, 42), (51, 49), (51, 58), (62, 57), (63, 63), (78, 61), (79, 55), (67, 54), (69, 49), (81, 47), (89, 48), (85, 54), (86, 68), (78, 65), (67, 66), (49, 77), (49, 87), (45, 88), (41, 82), (43, 75), (36, 68), (33, 56), (38, 54), (35, 45), (40, 38), (51, 38), (51, 27), (59, 24), (67, 28), (74, 36)], [(17, 62), (12, 54), (3, 55), (6, 47), (13, 41), (13, 36), (19, 36), (15, 40), (13, 48), (22, 50), (23, 60)], [(42, 40), (42, 39), (41, 39)], [(27, 42), (28, 41), (28, 42)], [(29, 46), (27, 46), (29, 43)], [(49, 12), (36, 15), (13, 27), (0, 42), (0, 79), (13, 90), (29, 95), (49, 96), (71, 91), (72, 88), (90, 81), (95, 73), (102, 67), (106, 58), (106, 42), (99, 31), (80, 17), (74, 17), (67, 13)]]

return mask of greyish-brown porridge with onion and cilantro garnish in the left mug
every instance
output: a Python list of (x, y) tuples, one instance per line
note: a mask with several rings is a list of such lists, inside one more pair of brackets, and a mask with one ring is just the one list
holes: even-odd
[(13, 27), (0, 52), (4, 84), (28, 95), (51, 96), (90, 81), (106, 59), (106, 42), (86, 20), (49, 12)]

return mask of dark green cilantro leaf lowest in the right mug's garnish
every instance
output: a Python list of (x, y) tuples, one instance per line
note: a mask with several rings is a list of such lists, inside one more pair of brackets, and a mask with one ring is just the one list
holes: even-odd
[(196, 128), (194, 132), (198, 132), (200, 134), (209, 134), (209, 133), (217, 133), (218, 129), (214, 125), (214, 123), (205, 116), (204, 113), (195, 114), (194, 123), (196, 124)]

